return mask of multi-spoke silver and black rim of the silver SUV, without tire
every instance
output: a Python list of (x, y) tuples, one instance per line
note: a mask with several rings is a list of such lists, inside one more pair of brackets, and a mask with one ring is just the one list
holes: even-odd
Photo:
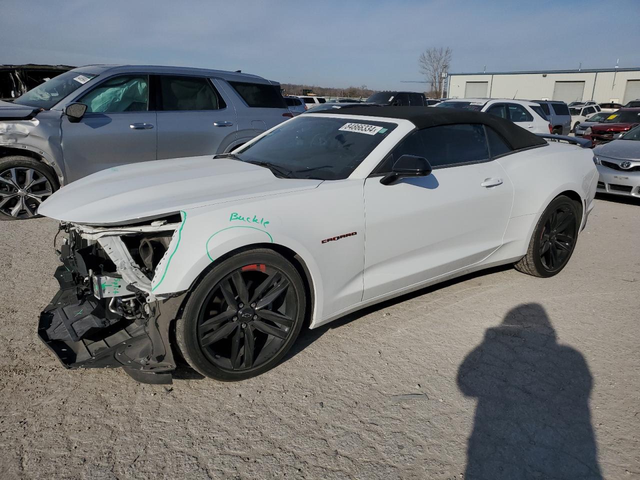
[(0, 172), (0, 212), (15, 219), (31, 218), (53, 193), (44, 174), (28, 167), (14, 167)]

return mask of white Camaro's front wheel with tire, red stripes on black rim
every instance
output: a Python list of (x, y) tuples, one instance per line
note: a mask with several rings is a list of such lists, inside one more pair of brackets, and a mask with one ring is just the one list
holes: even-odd
[(300, 274), (282, 255), (239, 253), (212, 269), (176, 324), (184, 359), (204, 376), (244, 380), (275, 367), (305, 320)]

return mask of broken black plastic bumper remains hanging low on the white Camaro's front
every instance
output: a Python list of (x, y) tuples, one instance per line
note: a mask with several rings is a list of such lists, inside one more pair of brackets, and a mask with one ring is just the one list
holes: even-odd
[(124, 297), (134, 305), (127, 314), (114, 307), (119, 298), (96, 294), (86, 275), (95, 259), (86, 248), (64, 248), (63, 266), (54, 274), (60, 291), (40, 313), (40, 339), (69, 369), (122, 367), (141, 382), (171, 383), (175, 360), (169, 328), (184, 294), (148, 301), (131, 292)]

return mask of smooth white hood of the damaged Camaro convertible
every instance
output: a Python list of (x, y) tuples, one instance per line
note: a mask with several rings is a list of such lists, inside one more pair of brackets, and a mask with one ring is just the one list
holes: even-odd
[(280, 179), (228, 158), (185, 157), (93, 173), (51, 195), (38, 213), (90, 225), (124, 225), (171, 212), (316, 188), (323, 180)]

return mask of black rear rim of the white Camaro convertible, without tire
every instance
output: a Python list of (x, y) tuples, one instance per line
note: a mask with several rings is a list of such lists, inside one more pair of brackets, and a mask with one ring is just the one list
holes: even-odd
[(559, 205), (545, 221), (540, 236), (540, 260), (547, 271), (563, 268), (573, 252), (577, 218), (568, 205)]

